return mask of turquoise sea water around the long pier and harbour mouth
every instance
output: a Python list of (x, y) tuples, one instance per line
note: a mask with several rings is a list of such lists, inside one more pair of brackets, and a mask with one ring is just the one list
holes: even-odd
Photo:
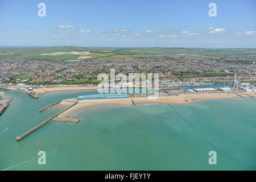
[[(52, 121), (16, 142), (63, 109), (40, 108), (82, 93), (35, 100), (1, 91), (14, 99), (0, 117), (0, 169), (256, 170), (255, 98), (171, 104), (180, 115), (166, 104), (90, 108), (76, 116), (79, 123)], [(46, 151), (46, 165), (38, 164), (39, 151)], [(209, 151), (217, 152), (217, 165), (209, 165)]]

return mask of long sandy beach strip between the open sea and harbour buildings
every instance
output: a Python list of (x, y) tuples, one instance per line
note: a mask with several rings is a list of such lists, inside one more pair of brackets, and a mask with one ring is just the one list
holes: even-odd
[[(242, 97), (255, 97), (255, 93), (240, 93)], [(155, 100), (149, 100), (147, 97), (142, 98), (132, 98), (136, 104), (189, 104), (193, 100), (201, 99), (222, 99), (222, 98), (234, 98), (240, 97), (236, 93), (207, 93), (207, 94), (180, 94), (179, 96), (168, 96), (168, 97), (158, 97)], [(77, 101), (76, 98), (64, 100), (60, 104), (71, 105), (72, 101)], [(126, 105), (132, 106), (131, 98), (113, 98), (113, 99), (103, 99), (103, 100), (80, 100), (79, 103), (64, 113), (60, 114), (60, 118), (65, 117), (75, 117), (77, 113), (85, 110), (89, 107), (98, 106), (110, 106), (110, 105)]]

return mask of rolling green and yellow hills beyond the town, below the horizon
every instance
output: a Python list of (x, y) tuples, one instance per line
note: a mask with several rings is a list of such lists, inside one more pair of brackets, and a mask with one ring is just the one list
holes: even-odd
[(255, 53), (255, 48), (225, 48), (225, 49), (205, 49), (205, 48), (88, 48), (88, 47), (23, 47), (23, 48), (0, 48), (1, 58), (16, 58), (28, 60), (51, 60), (67, 61), (76, 60), (80, 55), (41, 55), (43, 53), (53, 52), (72, 52), (89, 51), (93, 59), (127, 59), (133, 57), (145, 57), (161, 59), (163, 57), (156, 55), (198, 55), (198, 56), (218, 56), (225, 57), (230, 55), (241, 55), (246, 53)]

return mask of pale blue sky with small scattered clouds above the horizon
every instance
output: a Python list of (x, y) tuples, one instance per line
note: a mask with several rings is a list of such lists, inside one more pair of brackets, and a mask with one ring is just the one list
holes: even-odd
[(0, 46), (256, 48), (256, 1), (0, 0)]

